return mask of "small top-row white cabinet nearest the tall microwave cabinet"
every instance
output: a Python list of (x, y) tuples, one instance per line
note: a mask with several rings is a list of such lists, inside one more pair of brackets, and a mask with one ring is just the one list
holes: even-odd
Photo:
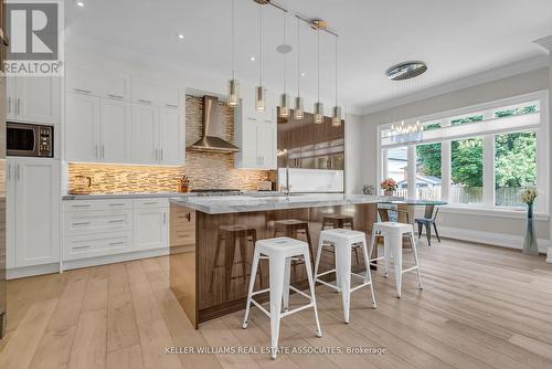
[(129, 77), (126, 75), (96, 73), (79, 67), (67, 70), (67, 92), (128, 101), (129, 86)]

